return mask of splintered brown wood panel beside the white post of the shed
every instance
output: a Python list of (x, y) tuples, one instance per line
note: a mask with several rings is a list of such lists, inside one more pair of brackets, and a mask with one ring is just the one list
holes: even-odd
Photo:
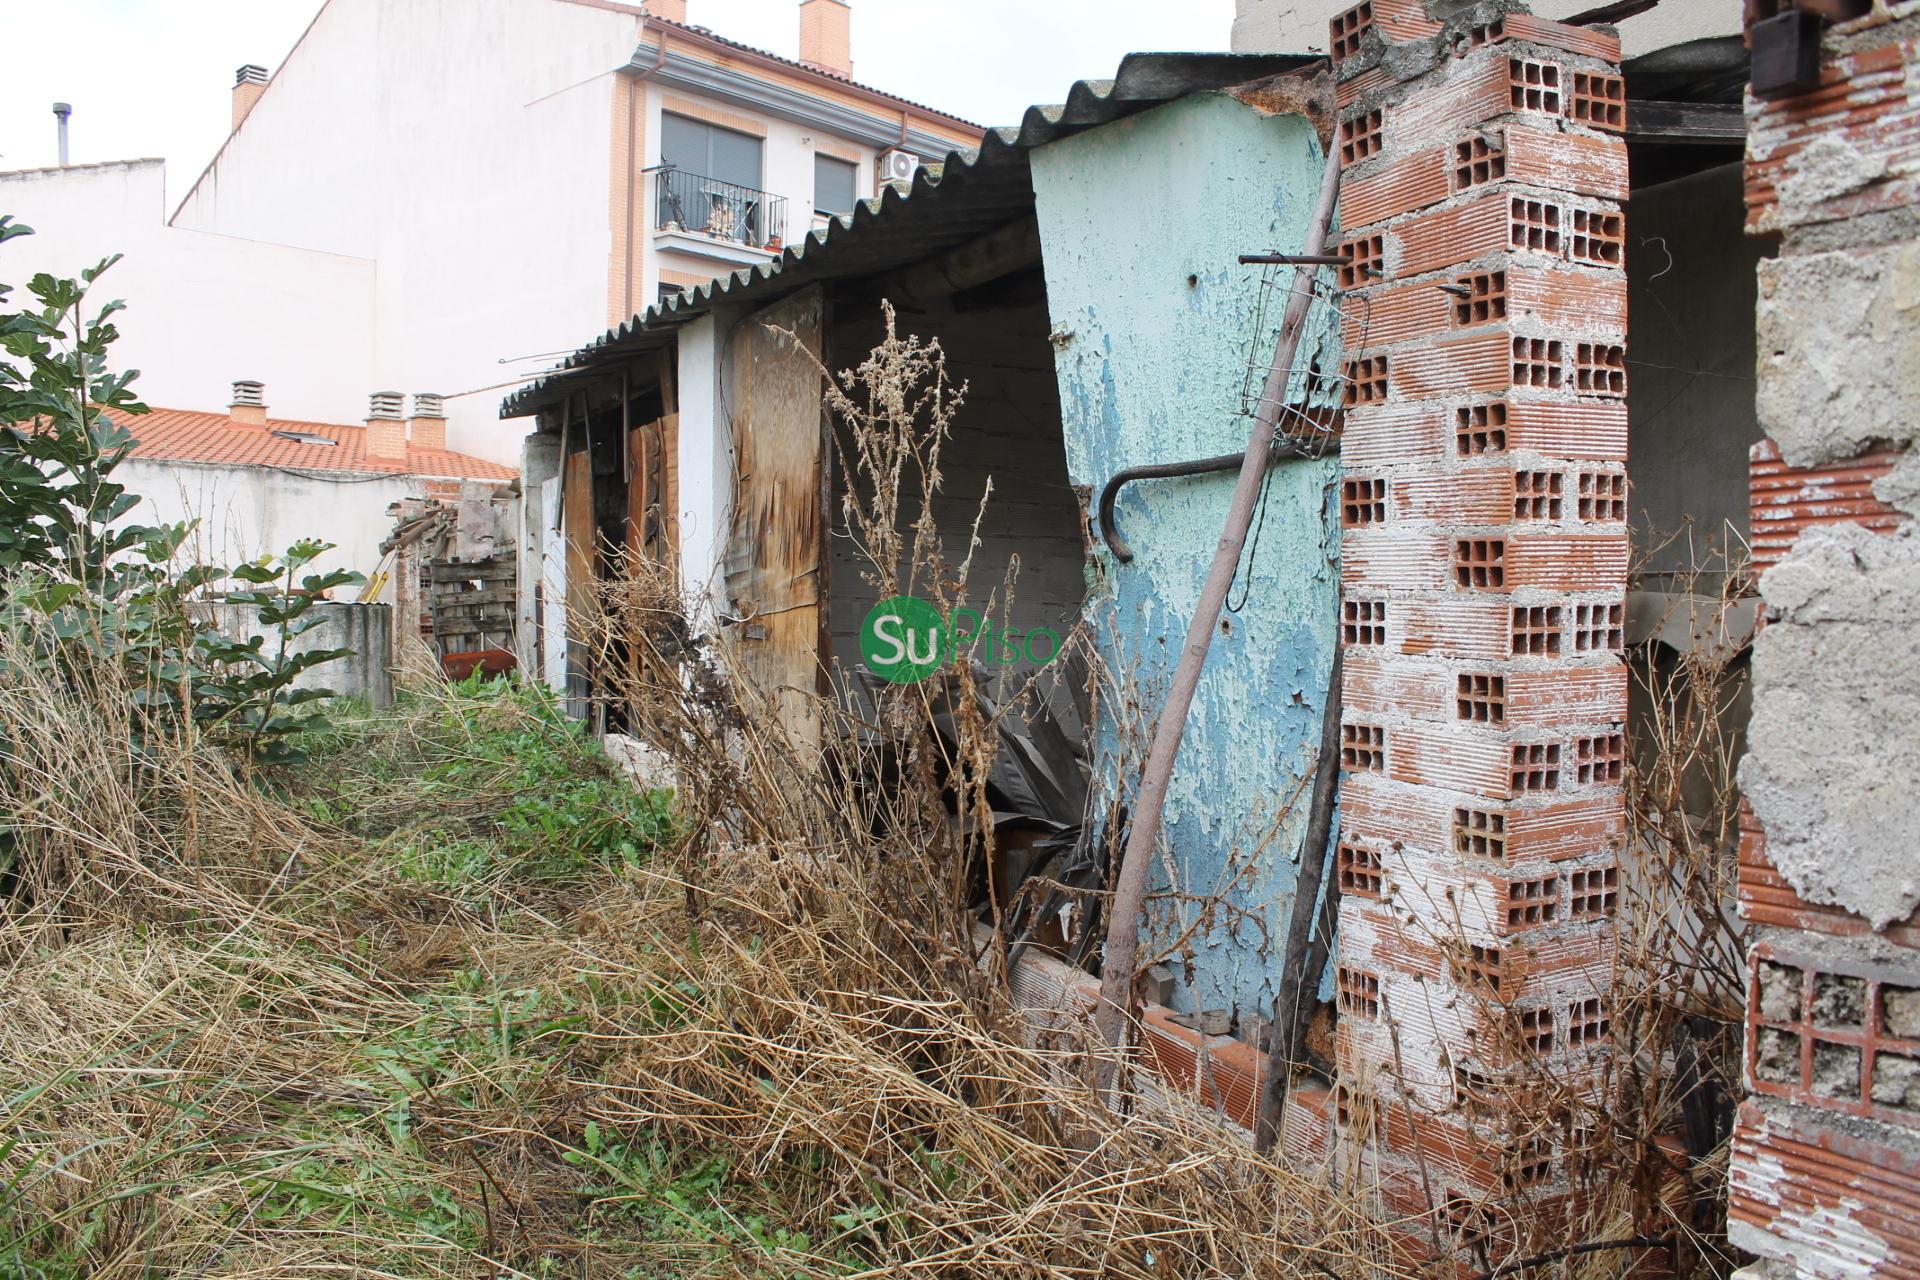
[(820, 741), (810, 695), (824, 670), (820, 313), (822, 292), (808, 288), (751, 315), (735, 334), (737, 470), (726, 557), (728, 595), (743, 620), (732, 628), (741, 666), (808, 747)]

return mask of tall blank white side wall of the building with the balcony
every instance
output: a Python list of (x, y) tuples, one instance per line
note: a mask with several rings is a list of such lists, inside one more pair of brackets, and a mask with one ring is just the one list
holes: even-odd
[(175, 225), (378, 259), (359, 403), (440, 391), (449, 447), (513, 464), (526, 424), (478, 388), (605, 328), (636, 44), (632, 13), (555, 0), (330, 0)]

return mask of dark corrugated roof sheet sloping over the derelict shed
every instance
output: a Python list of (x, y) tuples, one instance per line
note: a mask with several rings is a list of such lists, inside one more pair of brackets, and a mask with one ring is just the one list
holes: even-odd
[(778, 259), (743, 267), (611, 328), (540, 382), (501, 403), (518, 418), (559, 403), (595, 367), (672, 342), (674, 330), (722, 303), (764, 305), (816, 280), (866, 276), (922, 261), (1033, 211), (1027, 152), (1187, 94), (1244, 84), (1325, 61), (1319, 54), (1129, 54), (1112, 81), (1079, 81), (1060, 106), (1027, 107), (1018, 129), (989, 129), (977, 152), (950, 152), (941, 177), (922, 169), (910, 196), (889, 188), (851, 217), (808, 232)]

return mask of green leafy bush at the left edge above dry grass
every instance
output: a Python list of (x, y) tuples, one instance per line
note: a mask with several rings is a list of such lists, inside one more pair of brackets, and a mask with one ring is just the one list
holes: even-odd
[[(0, 215), (0, 244), (33, 234)], [(136, 438), (115, 416), (148, 407), (132, 393), (138, 370), (109, 372), (119, 338), (109, 301), (88, 315), (109, 257), (79, 280), (36, 274), (33, 305), (12, 311), (0, 286), (0, 626), (29, 654), (63, 672), (77, 691), (125, 689), (146, 716), (190, 716), (250, 760), (301, 758), (300, 733), (319, 727), (298, 708), (328, 697), (294, 689), (298, 677), (348, 651), (292, 652), (319, 626), (313, 604), (359, 581), (334, 570), (296, 576), (332, 543), (301, 539), (280, 557), (230, 574), (180, 564), (192, 524), (131, 522), (138, 495), (113, 480)], [(242, 585), (223, 593), (225, 580)], [(238, 641), (205, 622), (205, 604), (252, 604), (267, 637)], [(4, 737), (0, 737), (4, 747)]]

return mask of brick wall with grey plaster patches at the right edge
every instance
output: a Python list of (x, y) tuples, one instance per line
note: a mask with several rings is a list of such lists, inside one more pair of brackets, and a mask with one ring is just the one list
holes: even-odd
[(1747, 226), (1780, 248), (1755, 317), (1728, 1232), (1755, 1280), (1920, 1276), (1920, 4), (1862, 8), (1824, 27), (1818, 83), (1747, 100)]

